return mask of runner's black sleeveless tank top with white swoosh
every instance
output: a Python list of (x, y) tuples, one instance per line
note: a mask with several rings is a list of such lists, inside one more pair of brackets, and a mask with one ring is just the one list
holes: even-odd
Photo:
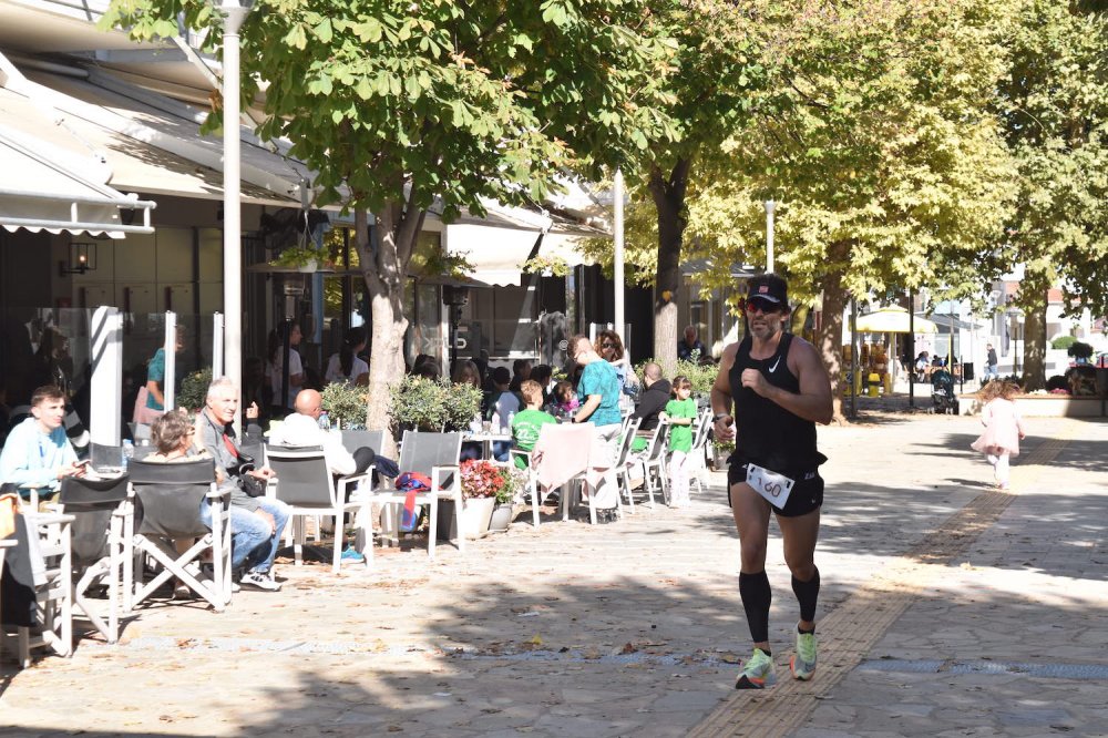
[(827, 457), (815, 448), (815, 423), (794, 416), (778, 403), (742, 386), (742, 370), (757, 369), (773, 387), (800, 391), (800, 380), (789, 371), (792, 334), (781, 334), (777, 352), (768, 359), (750, 357), (752, 340), (742, 339), (728, 379), (735, 399), (735, 453), (731, 463), (753, 462), (787, 473), (812, 471)]

